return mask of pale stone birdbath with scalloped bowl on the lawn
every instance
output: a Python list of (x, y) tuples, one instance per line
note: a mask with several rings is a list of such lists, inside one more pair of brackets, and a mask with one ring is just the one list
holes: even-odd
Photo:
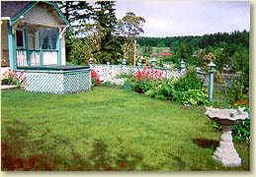
[(206, 107), (206, 109), (206, 115), (217, 122), (222, 128), (219, 147), (213, 152), (213, 159), (220, 161), (224, 166), (228, 167), (241, 165), (241, 158), (233, 146), (230, 126), (234, 126), (239, 121), (248, 118), (248, 113), (244, 111), (245, 108), (218, 109)]

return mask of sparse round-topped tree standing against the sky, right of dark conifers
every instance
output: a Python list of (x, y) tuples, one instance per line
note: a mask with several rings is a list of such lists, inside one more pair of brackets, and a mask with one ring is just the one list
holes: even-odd
[(135, 38), (139, 33), (143, 32), (142, 26), (144, 23), (145, 20), (142, 17), (135, 16), (132, 12), (126, 13), (126, 16), (119, 21), (120, 32), (125, 37), (125, 44), (123, 45), (124, 58), (133, 65), (135, 64)]

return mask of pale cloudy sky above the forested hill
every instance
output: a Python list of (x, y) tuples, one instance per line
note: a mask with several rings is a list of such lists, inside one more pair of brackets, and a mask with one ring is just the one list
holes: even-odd
[(250, 30), (250, 3), (245, 0), (117, 0), (118, 19), (128, 11), (145, 19), (140, 36)]

